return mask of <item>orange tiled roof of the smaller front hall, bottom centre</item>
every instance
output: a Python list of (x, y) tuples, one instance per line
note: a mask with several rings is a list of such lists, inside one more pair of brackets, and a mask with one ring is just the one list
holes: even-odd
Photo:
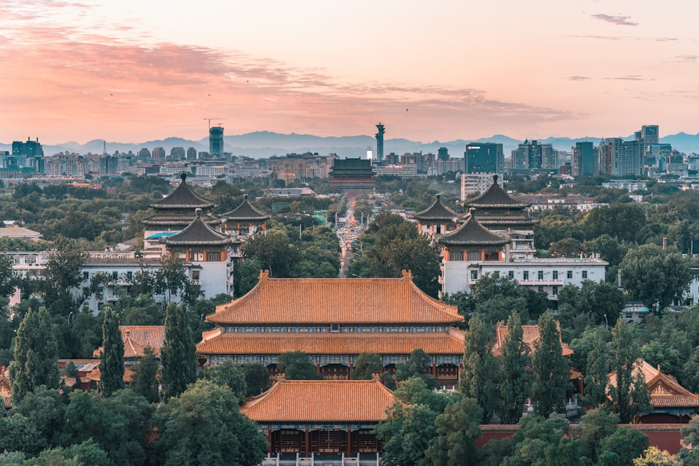
[(240, 412), (258, 423), (380, 422), (393, 393), (375, 380), (281, 380)]

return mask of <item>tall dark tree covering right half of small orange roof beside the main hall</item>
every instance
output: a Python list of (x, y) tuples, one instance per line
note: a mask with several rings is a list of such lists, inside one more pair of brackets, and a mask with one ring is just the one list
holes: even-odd
[(531, 357), (531, 391), (536, 412), (548, 415), (563, 410), (570, 368), (562, 353), (561, 334), (548, 312), (539, 317), (539, 334)]

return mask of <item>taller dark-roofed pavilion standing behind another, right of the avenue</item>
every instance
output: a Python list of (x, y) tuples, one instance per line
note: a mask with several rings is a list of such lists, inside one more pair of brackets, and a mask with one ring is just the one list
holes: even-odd
[(498, 184), (498, 175), (493, 175), (493, 184), (480, 196), (466, 201), (468, 210), (475, 209), (478, 221), (493, 233), (505, 233), (512, 240), (513, 259), (532, 259), (534, 248), (534, 225), (538, 219), (525, 211), (531, 204), (517, 201)]

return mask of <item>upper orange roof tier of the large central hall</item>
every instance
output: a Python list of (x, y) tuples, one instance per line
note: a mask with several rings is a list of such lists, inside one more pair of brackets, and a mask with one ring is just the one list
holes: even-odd
[(207, 321), (223, 324), (454, 323), (456, 306), (430, 298), (403, 278), (269, 278), (242, 298), (216, 307)]

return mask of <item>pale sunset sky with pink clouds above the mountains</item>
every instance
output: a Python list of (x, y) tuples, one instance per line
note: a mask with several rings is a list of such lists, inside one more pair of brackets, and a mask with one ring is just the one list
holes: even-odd
[(0, 0), (0, 143), (693, 134), (697, 17), (695, 0)]

